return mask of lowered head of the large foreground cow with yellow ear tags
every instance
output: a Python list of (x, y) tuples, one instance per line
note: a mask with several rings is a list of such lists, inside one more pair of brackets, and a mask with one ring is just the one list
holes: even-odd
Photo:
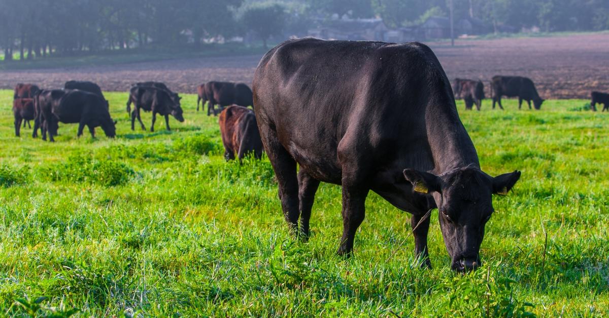
[(412, 183), (414, 191), (434, 196), (451, 268), (465, 272), (480, 266), (484, 226), (494, 211), (491, 196), (507, 194), (520, 178), (520, 171), (493, 178), (473, 167), (441, 176), (406, 169), (404, 177)]

